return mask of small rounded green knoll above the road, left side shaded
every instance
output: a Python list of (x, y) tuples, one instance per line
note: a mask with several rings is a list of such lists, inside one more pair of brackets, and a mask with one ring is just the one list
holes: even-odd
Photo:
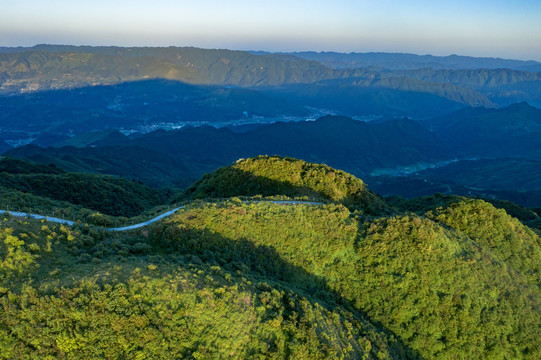
[(279, 156), (241, 159), (203, 176), (184, 193), (191, 199), (232, 196), (306, 196), (368, 213), (388, 210), (362, 180), (327, 165)]

